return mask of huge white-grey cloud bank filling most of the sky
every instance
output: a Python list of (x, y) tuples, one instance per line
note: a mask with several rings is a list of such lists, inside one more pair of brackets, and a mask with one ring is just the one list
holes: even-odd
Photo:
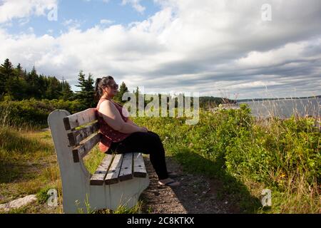
[(261, 20), (263, 3), (159, 1), (161, 11), (145, 21), (86, 31), (71, 26), (78, 21), (65, 21), (71, 28), (55, 38), (0, 29), (0, 60), (35, 65), (71, 83), (83, 70), (153, 91), (220, 95), (230, 89), (244, 98), (262, 95), (267, 86), (280, 96), (295, 88), (321, 93), (319, 0), (271, 0), (270, 22)]

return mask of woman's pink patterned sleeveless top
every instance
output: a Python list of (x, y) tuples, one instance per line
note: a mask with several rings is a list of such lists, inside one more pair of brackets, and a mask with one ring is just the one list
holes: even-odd
[[(99, 132), (102, 134), (101, 141), (99, 142), (98, 147), (99, 147), (99, 150), (101, 150), (101, 152), (106, 152), (111, 147), (111, 142), (120, 142), (120, 141), (124, 140), (125, 138), (127, 138), (127, 136), (130, 134), (121, 133), (118, 130), (114, 130), (113, 128), (111, 128), (111, 126), (109, 126), (106, 123), (105, 120), (103, 120), (103, 118), (100, 115), (98, 115), (99, 106), (101, 105), (103, 100), (107, 100), (107, 99), (101, 98), (101, 100), (99, 100), (97, 107), (96, 107), (96, 110), (97, 110), (96, 115), (97, 115), (98, 123), (100, 126)], [(116, 106), (117, 110), (121, 114), (121, 118), (123, 118), (123, 121), (127, 122), (128, 117), (123, 115), (123, 110), (124, 110), (124, 112), (126, 112), (126, 109), (123, 109), (122, 105), (114, 102), (113, 100), (111, 100), (111, 102)]]

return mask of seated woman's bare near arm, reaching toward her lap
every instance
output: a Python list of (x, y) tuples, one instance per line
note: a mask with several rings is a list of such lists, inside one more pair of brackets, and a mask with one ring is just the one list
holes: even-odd
[(103, 120), (121, 133), (147, 132), (146, 128), (138, 127), (137, 125), (126, 123), (121, 118), (121, 114), (111, 101), (105, 100), (99, 107), (99, 112), (103, 115)]

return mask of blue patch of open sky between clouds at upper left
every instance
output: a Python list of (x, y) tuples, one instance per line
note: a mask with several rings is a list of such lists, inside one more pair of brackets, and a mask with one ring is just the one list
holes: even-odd
[[(59, 36), (68, 31), (68, 26), (79, 26), (81, 30), (92, 28), (101, 24), (102, 20), (109, 21), (105, 26), (112, 24), (131, 24), (133, 21), (143, 21), (160, 10), (159, 4), (152, 0), (140, 2), (144, 11), (140, 12), (131, 4), (122, 4), (121, 0), (59, 0), (58, 20), (49, 21), (47, 15), (32, 15), (25, 19), (13, 19), (12, 26), (6, 29), (11, 34), (28, 33), (33, 28), (36, 36), (49, 33), (51, 36)], [(47, 9), (48, 13), (51, 9)], [(28, 21), (28, 22), (27, 22)], [(69, 22), (69, 24), (68, 24)]]

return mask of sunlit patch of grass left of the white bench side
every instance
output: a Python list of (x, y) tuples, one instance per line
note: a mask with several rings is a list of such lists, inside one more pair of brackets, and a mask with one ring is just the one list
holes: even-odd
[[(47, 188), (56, 188), (61, 195), (61, 181), (50, 132), (0, 128), (0, 203)], [(13, 210), (13, 213), (39, 213), (44, 202)], [(33, 209), (32, 209), (33, 208)], [(56, 209), (44, 209), (56, 212)], [(11, 213), (11, 212), (9, 212)]]

